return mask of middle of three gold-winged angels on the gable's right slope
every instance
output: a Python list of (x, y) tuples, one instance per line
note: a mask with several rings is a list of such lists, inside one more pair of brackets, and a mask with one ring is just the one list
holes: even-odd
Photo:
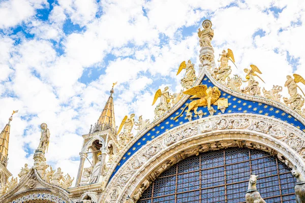
[[(256, 65), (250, 65), (251, 69), (244, 69), (243, 71), (246, 73), (246, 81), (248, 82), (248, 86), (241, 89), (242, 93), (248, 93), (252, 96), (260, 95), (260, 87), (258, 86), (259, 83), (255, 80), (255, 76), (261, 79), (257, 73), (262, 74), (262, 72), (258, 69)], [(261, 79), (263, 81), (263, 79)], [(263, 81), (264, 82), (264, 81)], [(264, 82), (265, 83), (265, 82)]]

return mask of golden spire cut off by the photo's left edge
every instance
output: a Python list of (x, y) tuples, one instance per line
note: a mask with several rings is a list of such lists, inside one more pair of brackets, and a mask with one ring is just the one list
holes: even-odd
[(12, 116), (9, 118), (8, 124), (4, 127), (0, 133), (0, 162), (6, 167), (8, 164), (8, 152), (10, 141), (11, 121), (13, 120), (13, 114), (18, 111), (13, 111)]

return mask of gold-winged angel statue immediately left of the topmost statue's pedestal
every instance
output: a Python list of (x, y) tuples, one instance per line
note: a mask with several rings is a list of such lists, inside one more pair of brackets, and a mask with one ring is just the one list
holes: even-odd
[(179, 75), (182, 69), (186, 70), (186, 74), (184, 78), (181, 79), (181, 86), (185, 89), (189, 89), (190, 87), (192, 87), (195, 80), (197, 79), (194, 64), (191, 60), (188, 60), (188, 63), (186, 63), (186, 61), (183, 61), (179, 66), (177, 75)]

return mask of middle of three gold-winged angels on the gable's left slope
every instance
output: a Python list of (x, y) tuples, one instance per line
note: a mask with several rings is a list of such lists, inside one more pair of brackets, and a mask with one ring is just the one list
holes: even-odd
[(163, 91), (158, 89), (155, 93), (153, 105), (156, 103), (157, 99), (160, 97), (160, 103), (155, 109), (155, 118), (162, 116), (171, 108), (170, 100), (174, 97), (169, 93), (169, 87), (165, 87)]

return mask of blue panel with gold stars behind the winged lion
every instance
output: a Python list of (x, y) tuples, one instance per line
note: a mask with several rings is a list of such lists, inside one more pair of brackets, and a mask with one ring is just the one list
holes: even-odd
[[(206, 85), (207, 87), (215, 86), (215, 84), (213, 84), (206, 76), (201, 81), (201, 84)], [(222, 90), (221, 90), (221, 97), (228, 99), (229, 107), (225, 110), (224, 113), (222, 113), (220, 110), (217, 110), (217, 106), (214, 106), (214, 109), (216, 110), (216, 113), (214, 115), (233, 114), (233, 113), (265, 115), (285, 121), (286, 123), (291, 124), (296, 128), (301, 129), (305, 132), (305, 126), (300, 121), (298, 121), (296, 118), (294, 118), (287, 112), (284, 112), (276, 107), (263, 103), (258, 103), (256, 101), (241, 99), (232, 96), (226, 92), (223, 92)], [(181, 116), (178, 119), (174, 120), (174, 117), (179, 115), (181, 111), (184, 109), (184, 107), (190, 104), (192, 100), (194, 99), (188, 99), (186, 103), (181, 106), (180, 109), (173, 112), (168, 118), (166, 118), (164, 121), (159, 123), (154, 128), (147, 131), (141, 138), (139, 138), (138, 141), (124, 154), (123, 158), (119, 161), (110, 179), (115, 175), (115, 173), (118, 171), (121, 165), (123, 165), (135, 152), (137, 152), (140, 148), (146, 145), (149, 141), (154, 140), (155, 138), (157, 138), (167, 130), (170, 130), (174, 127), (189, 122), (188, 118), (186, 117), (186, 111), (184, 111), (184, 113), (181, 114)], [(200, 110), (203, 112), (203, 118), (209, 116), (207, 107), (199, 107), (197, 111)], [(193, 111), (191, 111), (191, 113), (193, 113)], [(197, 119), (199, 119), (199, 117), (193, 114), (192, 120), (197, 120)]]

